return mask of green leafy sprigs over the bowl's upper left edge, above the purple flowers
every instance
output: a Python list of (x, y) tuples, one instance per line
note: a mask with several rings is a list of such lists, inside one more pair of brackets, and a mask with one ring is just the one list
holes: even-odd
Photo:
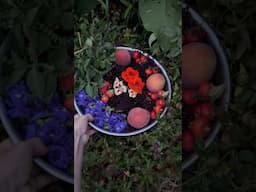
[[(75, 38), (76, 88), (85, 89), (90, 96), (98, 93), (102, 76), (114, 61), (115, 40), (122, 27), (101, 21), (79, 20)], [(104, 31), (104, 33), (102, 33)]]

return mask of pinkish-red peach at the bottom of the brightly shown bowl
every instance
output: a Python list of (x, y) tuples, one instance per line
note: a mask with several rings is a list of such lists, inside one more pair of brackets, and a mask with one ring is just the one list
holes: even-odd
[(133, 108), (128, 113), (127, 121), (132, 127), (141, 129), (149, 123), (150, 113), (140, 107)]

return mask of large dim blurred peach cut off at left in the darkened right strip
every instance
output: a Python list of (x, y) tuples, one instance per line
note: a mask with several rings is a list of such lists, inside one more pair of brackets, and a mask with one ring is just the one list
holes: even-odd
[(190, 43), (182, 48), (182, 84), (185, 88), (197, 88), (208, 81), (216, 68), (214, 50), (205, 43)]

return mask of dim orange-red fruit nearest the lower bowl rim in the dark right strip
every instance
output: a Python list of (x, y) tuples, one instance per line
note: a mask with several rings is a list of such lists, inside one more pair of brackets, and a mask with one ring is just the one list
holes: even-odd
[(195, 137), (205, 137), (207, 134), (207, 126), (209, 121), (207, 118), (198, 117), (191, 122), (191, 131)]

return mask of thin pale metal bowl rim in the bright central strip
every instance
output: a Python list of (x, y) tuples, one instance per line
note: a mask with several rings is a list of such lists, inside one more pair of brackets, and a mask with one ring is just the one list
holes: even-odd
[[(172, 84), (171, 84), (171, 80), (170, 80), (170, 75), (168, 75), (168, 73), (166, 72), (166, 70), (164, 69), (164, 67), (154, 58), (152, 57), (151, 55), (149, 55), (148, 53), (145, 53), (139, 49), (135, 49), (135, 48), (131, 48), (131, 47), (126, 47), (126, 46), (117, 46), (115, 47), (115, 49), (125, 49), (125, 50), (128, 50), (128, 51), (138, 51), (140, 52), (141, 54), (145, 55), (146, 57), (150, 58), (152, 61), (154, 61), (154, 63), (160, 68), (161, 72), (163, 73), (163, 75), (165, 76), (165, 80), (166, 80), (166, 83), (167, 83), (167, 88), (168, 88), (168, 91), (169, 91), (169, 94), (168, 94), (168, 97), (167, 97), (167, 103), (169, 104), (171, 102), (171, 99), (172, 99), (172, 94), (173, 94), (173, 91), (172, 91)], [(83, 115), (83, 113), (81, 112), (81, 110), (79, 109), (79, 107), (77, 106), (77, 103), (76, 103), (76, 99), (74, 99), (74, 106), (75, 106), (75, 109), (76, 111), (78, 112), (79, 115)], [(161, 113), (160, 115), (160, 119), (162, 117), (164, 117), (164, 115), (166, 114), (168, 110), (168, 107), (166, 106), (164, 108), (164, 111)], [(138, 129), (136, 131), (133, 131), (133, 132), (130, 132), (130, 133), (115, 133), (115, 132), (110, 132), (110, 131), (107, 131), (107, 130), (104, 130), (104, 129), (101, 129), (99, 127), (97, 127), (96, 125), (94, 125), (93, 123), (89, 122), (89, 125), (96, 129), (97, 131), (101, 132), (101, 133), (104, 133), (106, 135), (111, 135), (111, 136), (116, 136), (116, 137), (127, 137), (127, 136), (134, 136), (134, 135), (138, 135), (140, 133), (143, 133), (145, 131), (148, 131), (149, 129), (153, 128), (154, 126), (156, 126), (158, 123), (158, 120), (155, 120), (153, 123), (151, 123), (150, 125), (142, 128), (142, 129)]]

